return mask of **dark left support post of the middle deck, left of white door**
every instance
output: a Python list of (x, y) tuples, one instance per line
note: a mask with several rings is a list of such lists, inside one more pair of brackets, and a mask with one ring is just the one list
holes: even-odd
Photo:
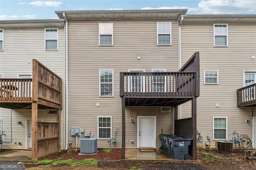
[(125, 159), (125, 98), (122, 97), (122, 159)]

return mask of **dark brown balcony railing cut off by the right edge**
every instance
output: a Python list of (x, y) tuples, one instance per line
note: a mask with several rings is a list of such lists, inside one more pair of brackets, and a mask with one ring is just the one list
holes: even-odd
[(237, 106), (256, 105), (256, 83), (237, 89)]

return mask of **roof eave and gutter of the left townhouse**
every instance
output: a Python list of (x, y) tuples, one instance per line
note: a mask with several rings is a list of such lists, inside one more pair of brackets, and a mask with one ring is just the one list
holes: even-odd
[(64, 28), (63, 19), (48, 19), (48, 20), (0, 20), (0, 28)]

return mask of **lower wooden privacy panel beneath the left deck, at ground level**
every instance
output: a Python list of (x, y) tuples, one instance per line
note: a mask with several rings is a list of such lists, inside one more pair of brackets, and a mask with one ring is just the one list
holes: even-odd
[(58, 152), (58, 123), (38, 122), (37, 157)]

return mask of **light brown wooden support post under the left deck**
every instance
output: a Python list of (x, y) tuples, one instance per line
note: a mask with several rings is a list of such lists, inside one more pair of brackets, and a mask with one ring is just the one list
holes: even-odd
[(37, 138), (38, 138), (38, 109), (37, 102), (32, 103), (32, 160), (37, 160)]

